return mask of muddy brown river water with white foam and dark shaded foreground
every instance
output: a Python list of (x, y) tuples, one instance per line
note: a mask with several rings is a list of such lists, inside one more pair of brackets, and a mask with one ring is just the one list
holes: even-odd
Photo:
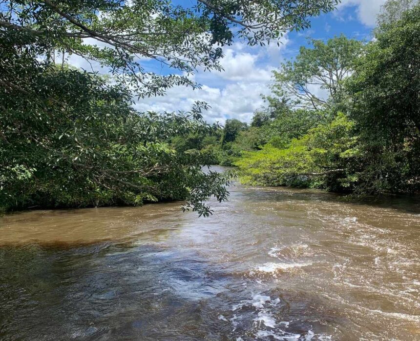
[(419, 202), (236, 184), (0, 219), (0, 340), (420, 340)]

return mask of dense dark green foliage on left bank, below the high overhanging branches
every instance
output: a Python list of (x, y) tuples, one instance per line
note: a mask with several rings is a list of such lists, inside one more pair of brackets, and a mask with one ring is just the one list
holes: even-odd
[(226, 199), (227, 175), (204, 174), (200, 155), (177, 153), (165, 142), (209, 129), (197, 119), (200, 106), (139, 115), (119, 84), (72, 69), (30, 76), (33, 89), (45, 89), (44, 100), (33, 103), (28, 87), (27, 96), (9, 92), (2, 101), (0, 201), (6, 209), (188, 199), (187, 207), (207, 215), (206, 194)]

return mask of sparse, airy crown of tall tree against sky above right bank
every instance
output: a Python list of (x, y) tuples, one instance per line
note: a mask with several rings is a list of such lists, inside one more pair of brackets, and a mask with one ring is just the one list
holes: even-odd
[[(317, 110), (325, 107), (328, 97), (338, 100), (341, 82), (351, 74), (363, 44), (341, 35), (326, 43), (311, 40), (311, 45), (302, 46), (294, 60), (273, 72), (272, 91), (274, 98), (286, 98), (293, 107)], [(326, 96), (318, 95), (319, 90)]]

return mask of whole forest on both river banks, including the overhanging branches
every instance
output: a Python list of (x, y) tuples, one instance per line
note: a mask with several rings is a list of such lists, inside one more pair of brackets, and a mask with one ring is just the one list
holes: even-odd
[[(222, 47), (235, 39), (279, 44), (339, 1), (283, 2), (1, 1), (1, 209), (185, 200), (184, 210), (208, 216), (205, 202), (226, 200), (233, 175), (203, 172), (210, 164), (237, 167), (249, 184), (418, 193), (417, 1), (389, 0), (371, 41), (301, 47), (273, 72), (251, 124), (210, 124), (204, 101), (189, 112), (134, 109), (134, 99), (174, 86), (199, 88), (190, 76), (220, 71)], [(69, 65), (70, 55), (106, 75)], [(172, 72), (147, 70), (143, 59)]]

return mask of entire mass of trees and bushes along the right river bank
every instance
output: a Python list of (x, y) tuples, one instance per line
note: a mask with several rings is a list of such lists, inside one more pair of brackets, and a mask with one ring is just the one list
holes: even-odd
[(339, 36), (302, 47), (274, 72), (272, 96), (250, 126), (226, 122), (219, 162), (238, 166), (251, 184), (418, 193), (417, 3), (388, 1), (366, 44)]

